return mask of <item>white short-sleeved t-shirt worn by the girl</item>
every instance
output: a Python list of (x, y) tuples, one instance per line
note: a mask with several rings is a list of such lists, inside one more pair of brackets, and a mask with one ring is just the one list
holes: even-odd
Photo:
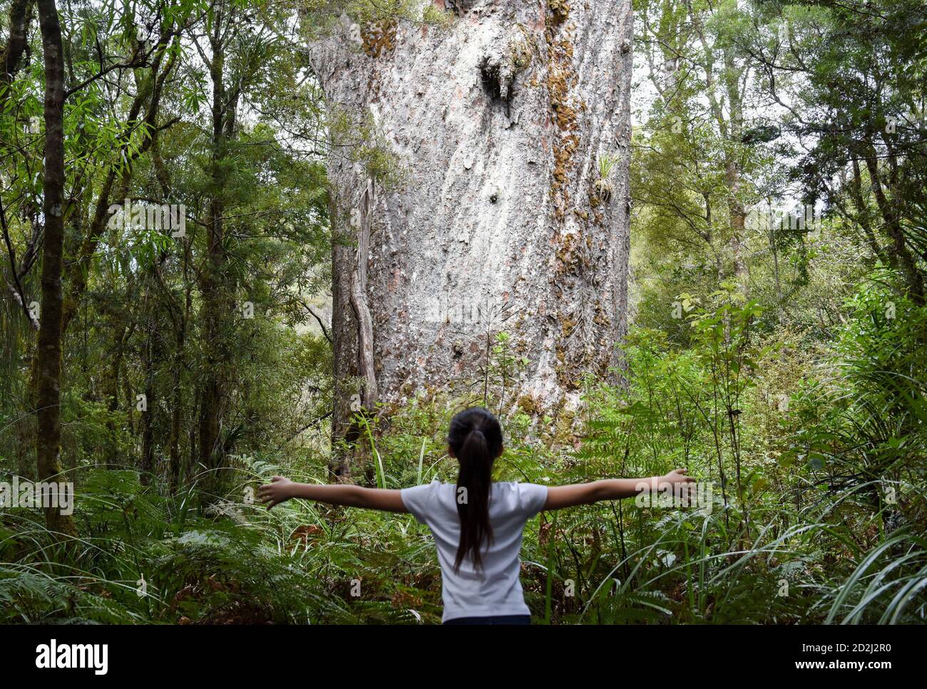
[(525, 522), (547, 502), (547, 486), (536, 483), (493, 483), (489, 491), (492, 543), (484, 542), (483, 567), (476, 571), (470, 557), (454, 571), (461, 540), (457, 514), (457, 486), (438, 479), (426, 485), (403, 488), (402, 503), (435, 537), (441, 566), (442, 621), (461, 617), (529, 615), (518, 573), (521, 569), (522, 532)]

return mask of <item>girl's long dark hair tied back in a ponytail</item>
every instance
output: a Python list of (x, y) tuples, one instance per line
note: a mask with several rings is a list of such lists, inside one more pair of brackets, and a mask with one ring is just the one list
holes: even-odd
[(451, 445), (461, 465), (456, 492), (461, 544), (457, 548), (454, 571), (460, 570), (461, 562), (468, 555), (479, 570), (483, 566), (480, 546), (484, 542), (492, 542), (489, 488), (492, 485), (492, 462), (502, 452), (502, 426), (483, 407), (464, 409), (451, 419), (448, 445)]

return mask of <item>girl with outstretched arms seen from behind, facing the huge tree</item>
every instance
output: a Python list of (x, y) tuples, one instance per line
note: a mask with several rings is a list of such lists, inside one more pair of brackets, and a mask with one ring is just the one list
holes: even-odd
[(260, 486), (268, 507), (291, 497), (330, 505), (411, 512), (435, 538), (441, 567), (445, 624), (530, 624), (518, 572), (525, 522), (542, 509), (586, 505), (693, 482), (686, 470), (649, 479), (608, 479), (551, 486), (492, 482), (492, 463), (502, 455), (502, 428), (482, 407), (451, 420), (449, 454), (460, 463), (457, 483), (436, 479), (402, 490), (357, 485), (294, 483), (280, 476)]

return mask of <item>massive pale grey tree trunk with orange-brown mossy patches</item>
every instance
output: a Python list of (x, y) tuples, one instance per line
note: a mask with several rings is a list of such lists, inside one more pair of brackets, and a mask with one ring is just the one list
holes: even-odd
[[(575, 406), (584, 373), (614, 380), (621, 363), (630, 1), (445, 4), (447, 27), (342, 18), (311, 45), (340, 123), (329, 161), (342, 240), (333, 250), (336, 435), (352, 394), (372, 402), (370, 362), (387, 405), (421, 390), (453, 394), (480, 376), (495, 329), (529, 361), (511, 398), (532, 411)], [(369, 158), (346, 155), (368, 125), (398, 182), (372, 180)], [(368, 352), (359, 351), (365, 309)], [(514, 315), (502, 323), (503, 312)], [(359, 393), (351, 379), (361, 379)]]

